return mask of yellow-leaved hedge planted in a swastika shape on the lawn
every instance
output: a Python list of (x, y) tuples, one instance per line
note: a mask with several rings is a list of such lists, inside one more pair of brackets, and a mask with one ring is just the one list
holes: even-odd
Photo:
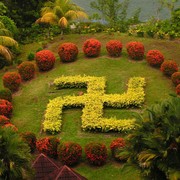
[(144, 102), (144, 78), (131, 78), (128, 82), (127, 93), (105, 94), (104, 77), (68, 76), (54, 80), (57, 88), (87, 87), (87, 94), (82, 96), (57, 97), (47, 105), (44, 131), (56, 133), (61, 131), (62, 110), (69, 107), (84, 107), (82, 114), (82, 129), (101, 132), (127, 131), (134, 129), (135, 119), (117, 120), (103, 118), (103, 106), (116, 108), (139, 107)]

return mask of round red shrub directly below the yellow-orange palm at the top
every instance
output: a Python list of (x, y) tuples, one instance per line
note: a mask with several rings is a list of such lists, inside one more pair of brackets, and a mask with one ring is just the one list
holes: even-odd
[(77, 59), (78, 47), (74, 43), (63, 43), (59, 46), (58, 54), (62, 62), (73, 62)]

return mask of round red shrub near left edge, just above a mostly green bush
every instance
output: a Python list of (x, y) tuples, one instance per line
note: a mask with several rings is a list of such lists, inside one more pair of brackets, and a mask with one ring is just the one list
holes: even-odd
[(4, 87), (9, 88), (12, 92), (17, 91), (21, 84), (21, 76), (17, 72), (6, 72), (2, 80)]

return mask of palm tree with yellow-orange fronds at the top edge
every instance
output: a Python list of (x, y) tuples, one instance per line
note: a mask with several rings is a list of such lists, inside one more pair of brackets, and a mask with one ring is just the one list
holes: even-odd
[(48, 1), (41, 9), (42, 17), (37, 23), (58, 24), (63, 34), (63, 29), (68, 26), (71, 20), (86, 19), (88, 16), (82, 8), (70, 0), (55, 0), (55, 2)]

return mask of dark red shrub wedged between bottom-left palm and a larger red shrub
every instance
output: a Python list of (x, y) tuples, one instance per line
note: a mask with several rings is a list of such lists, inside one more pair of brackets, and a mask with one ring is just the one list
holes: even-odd
[(21, 133), (21, 137), (30, 147), (31, 153), (33, 153), (36, 149), (36, 135), (32, 132), (24, 132)]

